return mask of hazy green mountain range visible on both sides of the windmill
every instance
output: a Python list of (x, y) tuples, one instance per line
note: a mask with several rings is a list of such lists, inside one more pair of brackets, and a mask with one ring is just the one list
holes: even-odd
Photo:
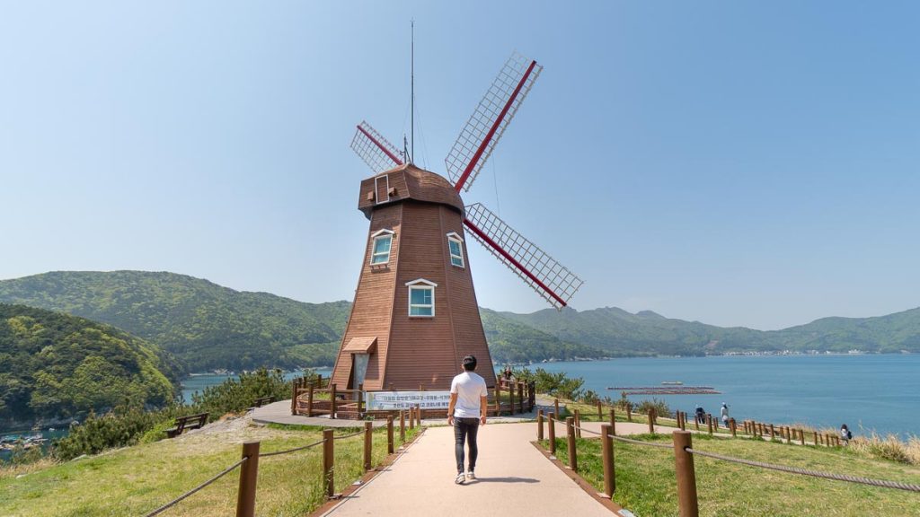
[[(0, 281), (0, 302), (120, 327), (173, 352), (190, 371), (329, 364), (351, 311), (349, 302), (306, 304), (146, 271), (56, 271)], [(920, 308), (879, 317), (828, 317), (774, 331), (616, 307), (531, 314), (480, 308), (480, 314), (496, 363), (780, 350), (920, 351)]]

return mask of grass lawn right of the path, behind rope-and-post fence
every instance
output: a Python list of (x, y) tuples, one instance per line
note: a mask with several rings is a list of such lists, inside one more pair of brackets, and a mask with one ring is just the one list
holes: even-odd
[[(596, 417), (596, 411), (595, 411)], [(668, 435), (630, 437), (672, 443)], [(814, 448), (778, 442), (725, 440), (694, 435), (694, 448), (765, 463), (798, 466), (829, 473), (920, 484), (920, 468), (875, 460), (846, 449)], [(601, 443), (577, 441), (579, 474), (604, 490)], [(542, 442), (548, 447), (548, 442)], [(568, 463), (564, 438), (556, 453)], [(676, 516), (677, 489), (673, 451), (614, 442), (614, 500), (638, 516)], [(696, 490), (704, 516), (920, 516), (920, 494), (843, 481), (805, 477), (697, 456)]]

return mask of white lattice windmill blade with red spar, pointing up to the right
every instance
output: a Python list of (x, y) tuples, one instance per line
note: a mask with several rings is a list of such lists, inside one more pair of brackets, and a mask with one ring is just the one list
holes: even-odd
[(444, 158), (454, 189), (469, 190), (543, 67), (514, 52)]

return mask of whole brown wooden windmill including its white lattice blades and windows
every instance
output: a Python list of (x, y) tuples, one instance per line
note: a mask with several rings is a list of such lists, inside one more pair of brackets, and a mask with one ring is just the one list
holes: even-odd
[(403, 163), (370, 125), (358, 126), (351, 148), (374, 171), (361, 182), (358, 208), (371, 227), (332, 383), (368, 391), (447, 389), (472, 353), (477, 372), (495, 385), (467, 235), (558, 309), (581, 287), (581, 279), (494, 213), (478, 203), (464, 206), (459, 195), (477, 178), (541, 69), (516, 53), (505, 63), (444, 160), (449, 180)]

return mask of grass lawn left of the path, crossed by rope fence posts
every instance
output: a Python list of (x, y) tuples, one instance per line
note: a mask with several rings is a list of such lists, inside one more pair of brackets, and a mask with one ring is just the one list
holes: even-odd
[[(224, 432), (193, 433), (51, 465), (17, 477), (0, 471), (0, 515), (144, 515), (233, 465), (243, 442), (259, 441), (260, 453), (322, 439), (318, 428), (256, 427), (242, 423)], [(354, 430), (337, 430), (336, 436)], [(417, 431), (408, 431), (407, 439)], [(399, 446), (399, 431), (395, 433)], [(386, 429), (374, 431), (373, 463), (386, 456)], [(335, 442), (336, 491), (363, 474), (362, 435)], [(236, 512), (238, 469), (162, 515), (224, 516)], [(256, 513), (302, 516), (325, 501), (322, 447), (259, 459)]]

